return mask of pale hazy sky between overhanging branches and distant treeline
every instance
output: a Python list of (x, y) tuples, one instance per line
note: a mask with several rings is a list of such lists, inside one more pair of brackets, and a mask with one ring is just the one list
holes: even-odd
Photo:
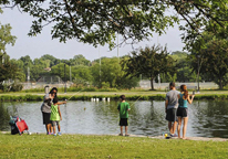
[[(52, 40), (51, 26), (45, 26), (41, 34), (37, 36), (29, 36), (29, 30), (33, 18), (28, 13), (21, 13), (17, 8), (3, 9), (3, 13), (0, 14), (0, 23), (10, 23), (12, 26), (11, 34), (17, 36), (15, 44), (13, 46), (7, 45), (7, 53), (10, 59), (20, 59), (21, 56), (29, 55), (32, 60), (41, 57), (44, 54), (50, 54), (56, 59), (73, 59), (74, 55), (82, 54), (85, 59), (93, 61), (100, 56), (113, 57), (117, 56), (117, 47), (110, 51), (108, 46), (94, 47), (93, 45), (80, 43), (76, 40), (69, 40), (66, 43), (60, 43), (58, 39)], [(169, 28), (166, 34), (158, 36), (156, 33), (149, 41), (143, 41), (134, 45), (134, 49), (152, 46), (154, 44), (160, 44), (165, 46), (169, 52), (182, 51), (184, 43), (182, 43), (180, 31), (178, 25)], [(120, 38), (120, 42), (121, 42)], [(118, 55), (123, 56), (133, 51), (131, 44), (122, 45), (118, 49)]]

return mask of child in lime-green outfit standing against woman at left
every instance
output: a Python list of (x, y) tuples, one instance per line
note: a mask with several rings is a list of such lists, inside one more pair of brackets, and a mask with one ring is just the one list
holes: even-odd
[(62, 116), (61, 116), (61, 112), (60, 112), (60, 106), (58, 105), (58, 98), (53, 98), (53, 104), (51, 105), (51, 117), (50, 120), (52, 121), (52, 126), (53, 126), (53, 135), (56, 136), (55, 132), (55, 126), (58, 125), (58, 135), (61, 136), (60, 132), (60, 120), (62, 120)]

